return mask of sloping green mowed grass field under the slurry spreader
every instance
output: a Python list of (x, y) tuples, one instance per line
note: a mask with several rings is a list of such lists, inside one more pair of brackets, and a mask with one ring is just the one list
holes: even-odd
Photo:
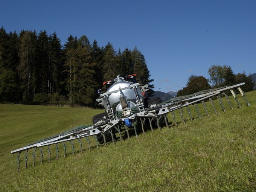
[[(32, 167), (32, 150), (28, 168), (24, 169), (24, 152), (17, 172), (17, 155), (11, 150), (43, 137), (58, 134), (78, 125), (91, 125), (91, 117), (102, 110), (33, 105), (0, 105), (0, 190), (1, 191), (255, 191), (256, 190), (256, 91), (246, 93), (247, 107), (239, 94), (242, 108), (230, 96), (233, 110), (222, 98), (226, 113), (214, 100), (218, 115), (207, 102), (206, 113), (201, 104), (201, 119), (191, 106), (193, 121), (183, 109), (175, 112), (178, 126), (150, 130), (107, 147), (96, 148), (90, 137), (91, 151), (82, 139), (75, 154), (67, 145), (64, 158), (59, 144), (59, 159), (51, 146), (51, 163), (47, 148), (36, 151)], [(172, 114), (168, 116), (172, 121)], [(139, 131), (139, 130), (138, 130)], [(123, 133), (124, 134), (124, 133)], [(118, 134), (117, 134), (118, 136)], [(125, 137), (125, 135), (123, 135)]]

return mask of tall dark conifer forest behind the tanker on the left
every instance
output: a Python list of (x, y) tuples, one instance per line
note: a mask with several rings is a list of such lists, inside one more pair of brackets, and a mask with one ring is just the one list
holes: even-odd
[(56, 32), (0, 28), (0, 102), (96, 107), (102, 82), (133, 73), (152, 93), (153, 79), (137, 47), (116, 52), (111, 43), (100, 47), (85, 35), (70, 35), (62, 46)]

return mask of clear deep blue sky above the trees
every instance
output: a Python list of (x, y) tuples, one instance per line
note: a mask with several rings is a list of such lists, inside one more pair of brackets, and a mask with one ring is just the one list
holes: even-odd
[(256, 73), (255, 0), (2, 0), (0, 26), (56, 31), (62, 45), (84, 34), (116, 51), (137, 46), (164, 92), (186, 86), (192, 74), (209, 78), (212, 65)]

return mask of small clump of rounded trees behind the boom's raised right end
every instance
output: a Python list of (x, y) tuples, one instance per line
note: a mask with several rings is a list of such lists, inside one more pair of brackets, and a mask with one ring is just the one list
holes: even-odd
[[(210, 88), (224, 87), (245, 82), (242, 89), (247, 91), (253, 90), (253, 79), (247, 76), (245, 72), (235, 74), (230, 66), (212, 65), (208, 69), (209, 79), (204, 76), (191, 75), (187, 81), (186, 87), (178, 90), (177, 96), (196, 93), (201, 90)], [(212, 86), (208, 83), (212, 83)]]

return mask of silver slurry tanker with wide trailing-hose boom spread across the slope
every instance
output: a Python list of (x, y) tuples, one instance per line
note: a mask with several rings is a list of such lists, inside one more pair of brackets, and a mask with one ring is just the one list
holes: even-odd
[(217, 114), (215, 107), (213, 105), (212, 98), (216, 96), (218, 98), (219, 104), (223, 111), (226, 111), (222, 105), (221, 96), (225, 96), (230, 105), (230, 108), (233, 109), (229, 96), (226, 94), (227, 91), (231, 91), (233, 97), (238, 104), (238, 107), (241, 108), (241, 105), (236, 97), (235, 91), (233, 89), (238, 88), (239, 92), (245, 99), (245, 102), (248, 106), (247, 99), (245, 98), (244, 91), (240, 88), (245, 83), (240, 83), (232, 86), (226, 86), (221, 88), (215, 88), (211, 90), (199, 91), (194, 94), (187, 96), (181, 96), (173, 98), (167, 102), (162, 102), (160, 98), (148, 98), (148, 84), (140, 84), (136, 82), (136, 74), (133, 75), (118, 75), (116, 79), (111, 81), (104, 82), (103, 85), (106, 85), (107, 91), (102, 93), (99, 90), (99, 98), (97, 101), (99, 105), (102, 105), (105, 108), (105, 113), (98, 114), (93, 117), (93, 125), (81, 125), (71, 130), (65, 131), (58, 135), (40, 140), (38, 142), (32, 143), (23, 148), (15, 149), (11, 151), (12, 154), (18, 153), (18, 171), (20, 169), (20, 153), (25, 151), (25, 168), (27, 168), (27, 151), (29, 149), (34, 149), (33, 152), (33, 166), (35, 165), (35, 151), (37, 148), (41, 148), (40, 156), (41, 163), (43, 162), (43, 150), (42, 147), (47, 146), (49, 151), (49, 162), (50, 158), (50, 146), (55, 145), (56, 148), (56, 158), (58, 159), (58, 143), (63, 143), (64, 146), (64, 157), (66, 157), (66, 144), (65, 142), (70, 142), (72, 145), (72, 152), (74, 153), (73, 141), (78, 140), (81, 145), (82, 152), (82, 142), (81, 138), (85, 137), (88, 142), (90, 149), (90, 140), (89, 136), (92, 136), (97, 143), (97, 148), (99, 143), (107, 144), (107, 142), (114, 142), (116, 138), (116, 133), (119, 134), (120, 140), (122, 140), (121, 131), (125, 130), (128, 138), (129, 132), (128, 129), (133, 127), (135, 136), (137, 135), (137, 127), (140, 124), (143, 134), (145, 134), (145, 126), (149, 125), (151, 131), (154, 131), (154, 126), (161, 129), (162, 126), (169, 128), (168, 113), (172, 112), (172, 117), (175, 126), (177, 122), (175, 121), (175, 110), (181, 109), (181, 119), (183, 119), (182, 109), (187, 108), (189, 112), (190, 119), (192, 120), (190, 114), (189, 105), (195, 105), (198, 117), (201, 118), (197, 104), (203, 103), (204, 110), (207, 112), (205, 101), (209, 100), (212, 104), (213, 110)]

